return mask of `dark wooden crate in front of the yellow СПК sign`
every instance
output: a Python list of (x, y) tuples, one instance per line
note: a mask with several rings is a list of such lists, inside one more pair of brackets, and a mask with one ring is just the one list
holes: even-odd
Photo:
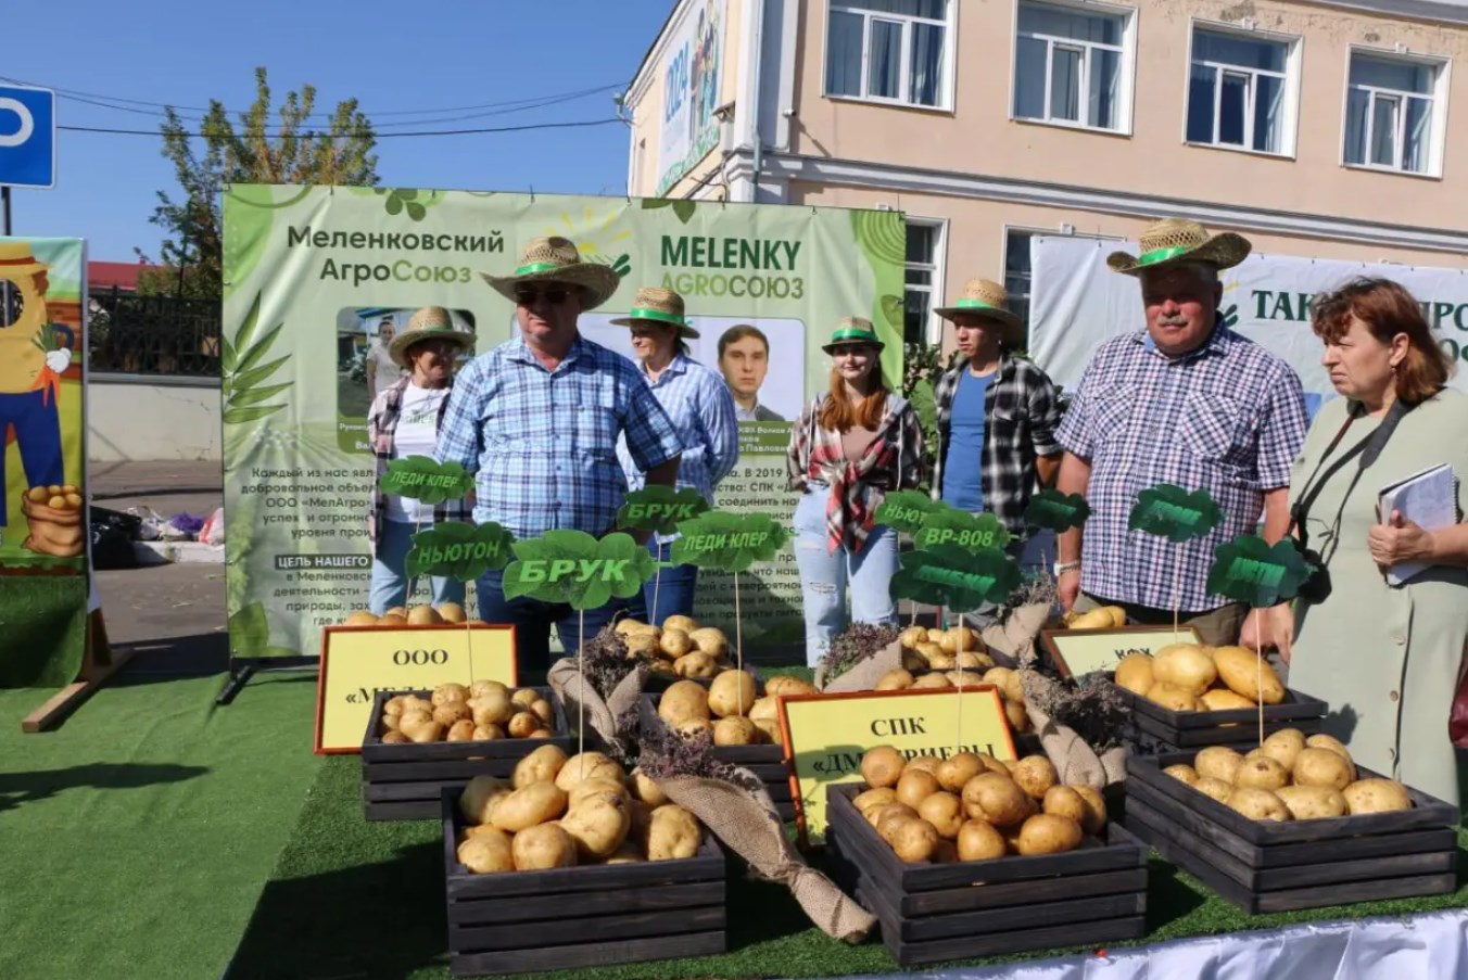
[[(826, 788), (826, 848), (903, 967), (1147, 933), (1147, 848), (1119, 824), (1076, 851), (906, 864), (857, 813), (862, 783)], [(982, 886), (982, 888), (981, 888)]]

